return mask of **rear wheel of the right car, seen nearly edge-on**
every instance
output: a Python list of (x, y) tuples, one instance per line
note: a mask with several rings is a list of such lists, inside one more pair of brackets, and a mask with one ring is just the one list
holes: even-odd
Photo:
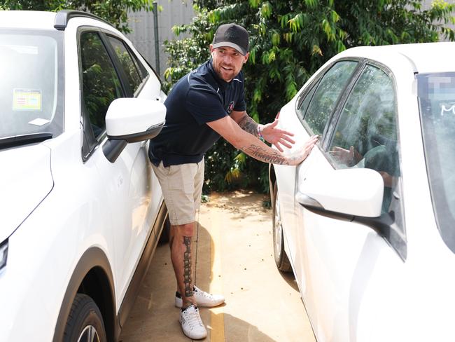
[(290, 262), (286, 252), (284, 251), (283, 225), (281, 224), (280, 204), (278, 196), (278, 186), (276, 183), (273, 186), (273, 252), (275, 264), (281, 272), (290, 272)]

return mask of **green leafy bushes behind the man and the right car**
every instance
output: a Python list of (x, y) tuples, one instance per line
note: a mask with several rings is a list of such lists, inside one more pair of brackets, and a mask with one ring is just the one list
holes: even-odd
[[(333, 55), (353, 46), (455, 40), (444, 25), (454, 22), (454, 4), (437, 0), (423, 10), (421, 0), (195, 0), (190, 25), (175, 27), (186, 38), (165, 43), (167, 90), (207, 60), (216, 27), (237, 22), (250, 33), (244, 66), (248, 114), (273, 120), (305, 81)], [(220, 140), (206, 156), (209, 189), (256, 186), (267, 191), (267, 165)]]

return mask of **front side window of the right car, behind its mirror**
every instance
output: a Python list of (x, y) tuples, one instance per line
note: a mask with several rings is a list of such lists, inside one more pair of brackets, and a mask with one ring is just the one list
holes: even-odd
[(382, 212), (389, 212), (400, 177), (393, 81), (367, 65), (341, 111), (329, 143), (337, 168), (367, 167), (384, 179)]

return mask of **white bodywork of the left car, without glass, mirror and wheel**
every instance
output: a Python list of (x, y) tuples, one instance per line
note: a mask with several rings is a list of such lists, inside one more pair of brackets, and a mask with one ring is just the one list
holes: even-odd
[[(55, 13), (18, 11), (8, 15), (0, 11), (0, 18), (1, 27), (53, 30)], [(10, 186), (15, 195), (27, 196), (21, 205), (10, 203), (17, 212), (22, 210), (15, 214), (22, 219), (15, 219), (8, 225), (9, 233), (2, 231), (5, 236), (0, 236), (0, 242), (9, 236), (8, 262), (0, 271), (0, 341), (52, 341), (55, 331), (62, 329), (56, 327), (57, 320), (71, 307), (72, 298), (64, 302), (67, 289), (80, 287), (70, 284), (80, 273), (80, 260), (95, 249), (109, 264), (106, 272), (111, 274), (112, 288), (102, 292), (113, 293), (113, 311), (118, 315), (147, 243), (155, 246), (159, 238), (156, 230), (160, 227), (155, 226), (162, 219), (158, 213), (163, 198), (148, 160), (148, 142), (127, 144), (110, 163), (102, 149), (108, 140), (105, 136), (83, 160), (80, 27), (111, 32), (123, 39), (148, 72), (135, 97), (161, 103), (165, 100), (160, 80), (123, 34), (99, 20), (69, 20), (64, 31), (64, 132), (39, 144), (0, 151), (0, 160), (7, 164), (13, 165), (14, 158), (20, 158), (15, 168), (8, 169), (8, 175), (17, 177), (20, 186), (13, 186), (15, 182)], [(8, 157), (9, 152), (15, 157)], [(2, 228), (3, 222), (4, 217)], [(106, 264), (97, 262), (92, 260), (92, 269)], [(83, 266), (90, 267), (86, 262)], [(117, 320), (106, 317), (111, 318)], [(66, 317), (61, 322), (66, 322)], [(114, 324), (118, 322), (108, 325)], [(108, 336), (116, 333), (110, 331)]]

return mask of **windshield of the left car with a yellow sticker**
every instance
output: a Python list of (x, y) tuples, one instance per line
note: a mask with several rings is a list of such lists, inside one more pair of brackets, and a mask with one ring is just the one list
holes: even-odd
[(0, 30), (0, 142), (62, 133), (62, 56), (62, 32)]

